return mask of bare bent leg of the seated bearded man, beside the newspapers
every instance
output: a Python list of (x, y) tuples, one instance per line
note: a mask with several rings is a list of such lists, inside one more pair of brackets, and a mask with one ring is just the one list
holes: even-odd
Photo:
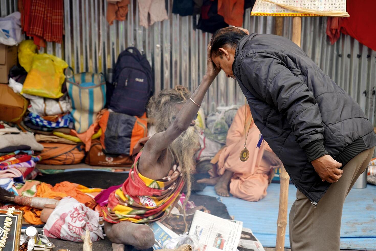
[[(117, 224), (105, 222), (105, 233), (112, 243), (132, 245), (136, 249), (148, 249), (154, 245), (154, 233), (150, 227), (144, 224), (136, 224), (130, 221), (121, 221)], [(124, 246), (123, 245), (123, 246)], [(121, 246), (115, 246), (123, 251)], [(114, 248), (114, 245), (112, 246)]]

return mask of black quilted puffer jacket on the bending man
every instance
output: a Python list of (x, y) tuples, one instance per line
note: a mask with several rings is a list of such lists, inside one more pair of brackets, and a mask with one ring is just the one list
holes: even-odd
[(376, 145), (358, 103), (287, 38), (257, 33), (242, 38), (232, 68), (258, 129), (312, 204), (330, 186), (312, 160), (330, 154), (345, 166)]

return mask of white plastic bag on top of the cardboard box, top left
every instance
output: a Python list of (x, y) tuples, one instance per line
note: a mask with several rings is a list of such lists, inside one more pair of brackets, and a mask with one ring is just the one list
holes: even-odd
[(17, 11), (0, 18), (0, 43), (14, 46), (22, 40), (21, 13)]

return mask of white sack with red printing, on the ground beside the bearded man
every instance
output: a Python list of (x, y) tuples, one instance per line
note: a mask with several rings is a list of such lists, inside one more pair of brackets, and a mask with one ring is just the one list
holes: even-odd
[(99, 213), (72, 197), (63, 198), (43, 227), (44, 235), (55, 239), (82, 242), (81, 236), (90, 231), (92, 242), (104, 239), (99, 225)]

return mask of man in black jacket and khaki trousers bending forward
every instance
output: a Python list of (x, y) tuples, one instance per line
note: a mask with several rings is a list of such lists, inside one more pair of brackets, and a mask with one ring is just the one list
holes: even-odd
[(291, 248), (339, 250), (343, 203), (376, 145), (367, 116), (287, 38), (231, 27), (217, 30), (211, 46), (212, 61), (237, 79), (256, 126), (298, 188)]

